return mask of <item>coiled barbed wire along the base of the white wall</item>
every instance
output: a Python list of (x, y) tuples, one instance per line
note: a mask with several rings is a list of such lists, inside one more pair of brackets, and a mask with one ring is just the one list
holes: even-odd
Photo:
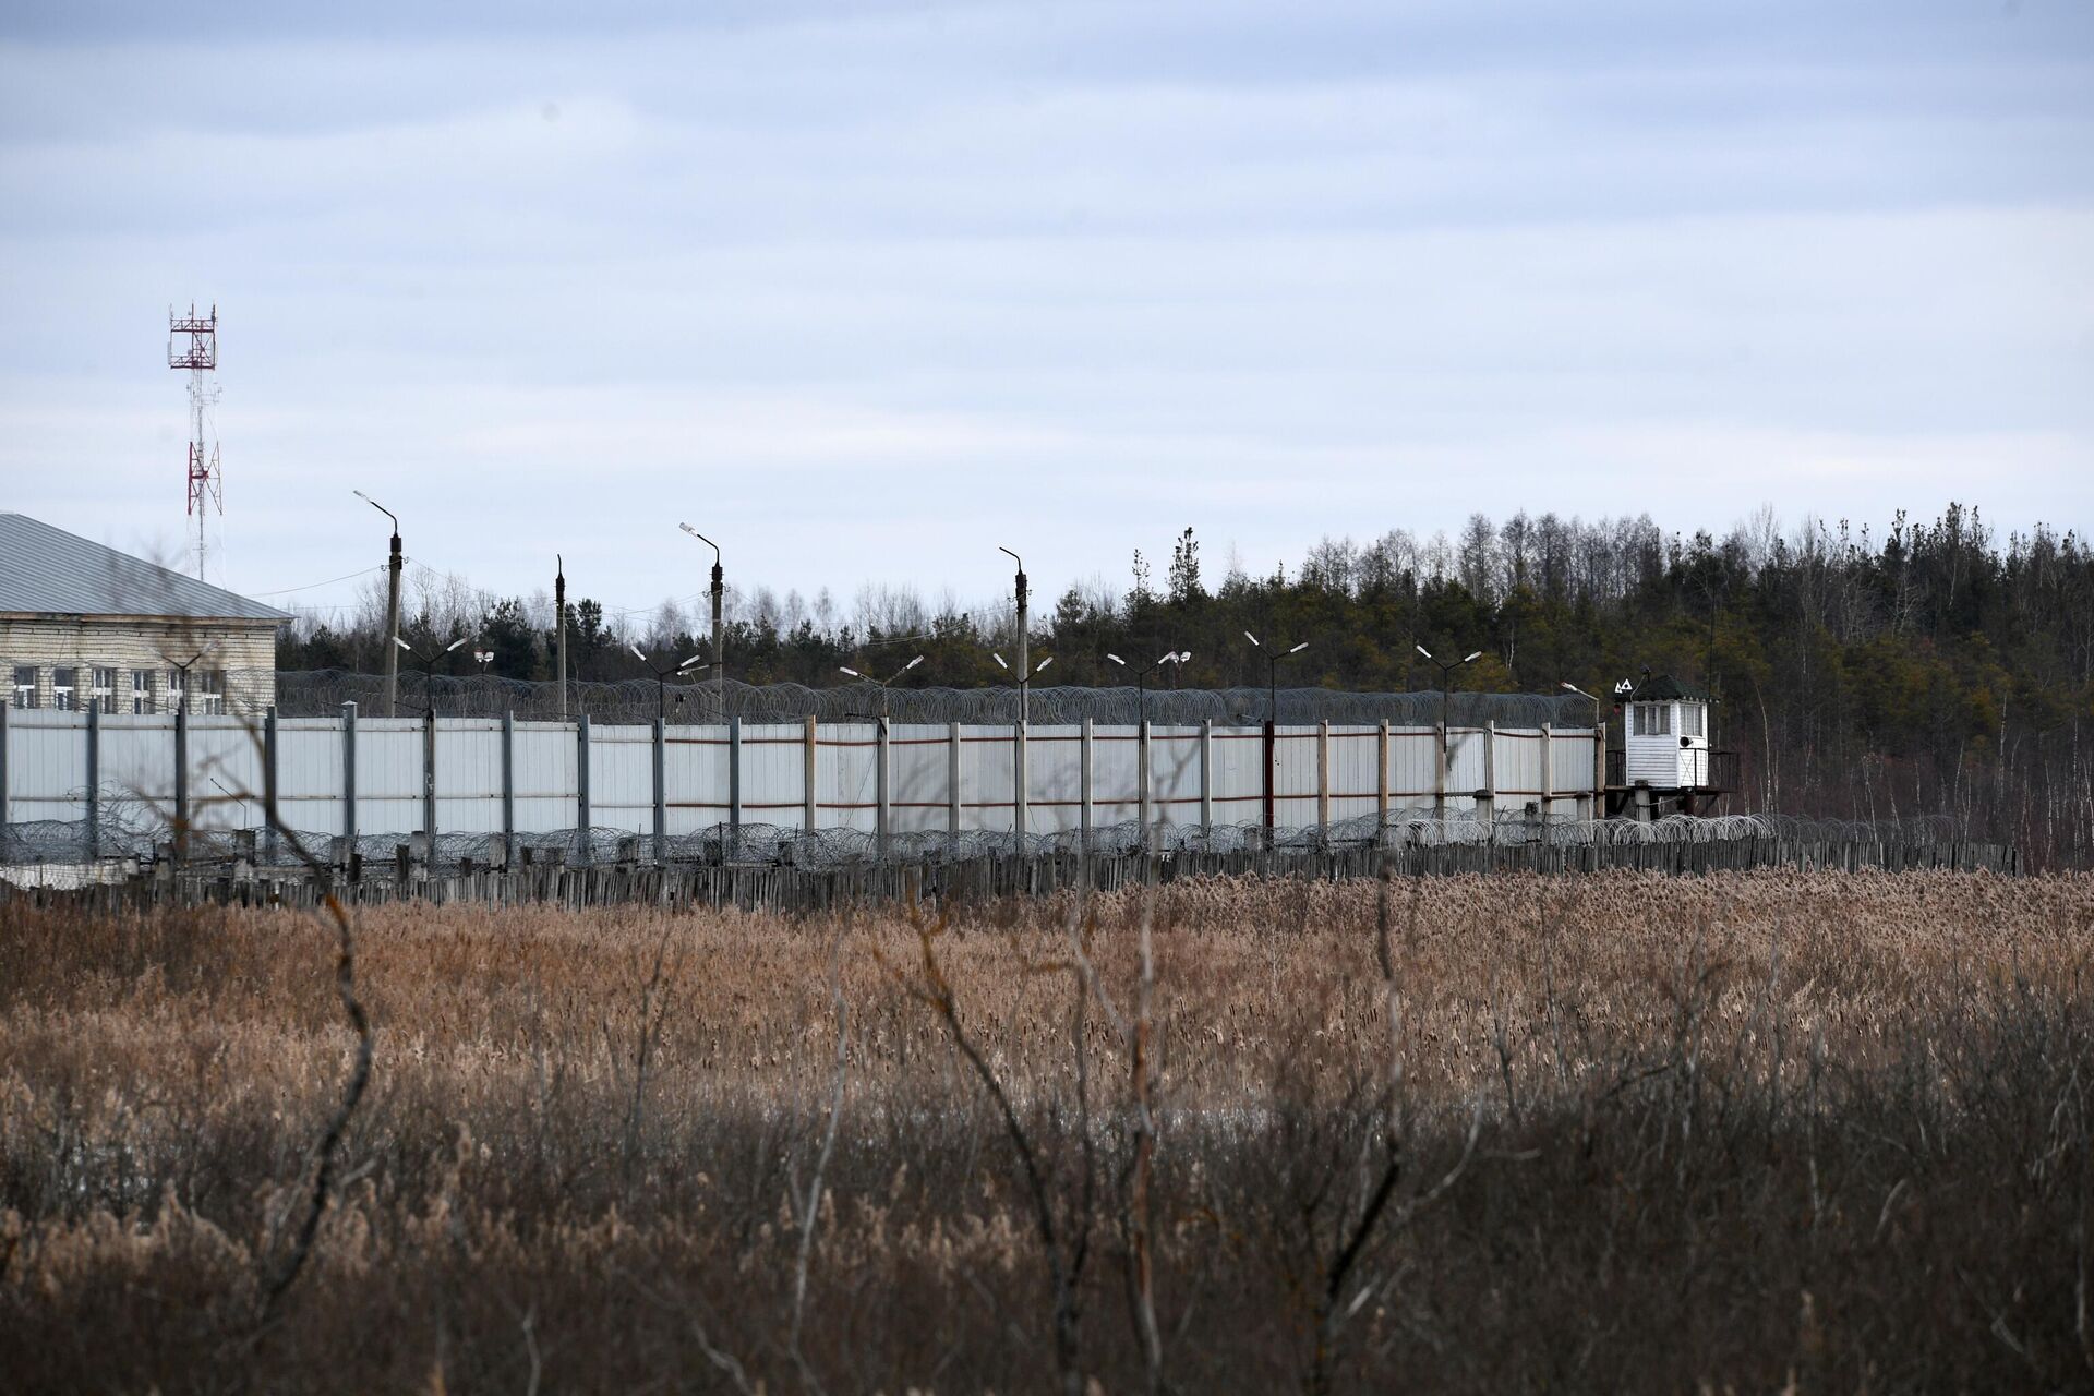
[[(297, 833), (308, 850), (346, 862), (337, 835)], [(833, 869), (873, 862), (953, 862), (990, 854), (1097, 854), (1135, 852), (1240, 852), (1271, 848), (1313, 852), (1328, 848), (1449, 848), (1449, 846), (1631, 846), (1631, 843), (1880, 843), (1939, 846), (1960, 841), (1962, 827), (1947, 814), (1897, 820), (1801, 818), (1792, 814), (1667, 814), (1652, 823), (1633, 818), (1539, 818), (1501, 812), (1497, 818), (1466, 814), (1436, 816), (1430, 808), (1363, 814), (1330, 825), (1267, 831), (1261, 825), (1150, 825), (1139, 820), (1093, 827), (1089, 833), (1011, 831), (911, 831), (886, 837), (865, 829), (798, 829), (783, 825), (712, 825), (695, 833), (666, 835), (630, 829), (547, 829), (517, 833), (440, 833), (433, 848), (421, 835), (364, 833), (354, 841), (360, 860), (398, 860), (402, 850), (415, 864), (436, 869), (503, 866), (509, 862), (735, 862), (802, 869)], [(103, 814), (94, 831), (86, 820), (27, 820), (0, 825), (0, 864), (86, 864), (96, 860), (151, 862), (170, 852), (172, 833), (140, 808), (117, 806)], [(511, 856), (513, 848), (513, 856)], [(188, 860), (260, 866), (270, 858), (270, 835), (258, 829), (193, 829)]]

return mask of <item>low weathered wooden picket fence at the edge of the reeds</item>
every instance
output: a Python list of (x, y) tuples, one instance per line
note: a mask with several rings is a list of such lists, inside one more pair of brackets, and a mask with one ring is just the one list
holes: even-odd
[(1832, 869), (1859, 873), (1962, 869), (2019, 875), (2021, 858), (2000, 843), (1883, 843), (1866, 839), (1717, 839), (1705, 843), (1451, 843), (1344, 846), (1323, 850), (1160, 852), (1083, 858), (1055, 854), (984, 854), (963, 860), (865, 862), (833, 869), (758, 864), (528, 864), (517, 869), (421, 871), (385, 864), (341, 873), (228, 869), (170, 871), (165, 864), (126, 881), (57, 890), (13, 887), (0, 879), (0, 902), (136, 913), (161, 906), (285, 906), (314, 908), (327, 892), (354, 906), (387, 902), (524, 906), (683, 906), (739, 908), (783, 915), (898, 902), (984, 902), (1009, 896), (1051, 896), (1089, 883), (1114, 892), (1189, 877), (1286, 877), (1338, 881), (1378, 877), (1449, 877), (1462, 873), (1577, 875), (1631, 869), (1696, 877), (1742, 869)]

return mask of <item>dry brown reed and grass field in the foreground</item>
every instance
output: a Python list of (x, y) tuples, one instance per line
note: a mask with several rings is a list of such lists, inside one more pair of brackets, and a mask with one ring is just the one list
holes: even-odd
[(0, 906), (0, 1386), (2094, 1386), (2088, 875), (354, 946), (293, 1268), (335, 927)]

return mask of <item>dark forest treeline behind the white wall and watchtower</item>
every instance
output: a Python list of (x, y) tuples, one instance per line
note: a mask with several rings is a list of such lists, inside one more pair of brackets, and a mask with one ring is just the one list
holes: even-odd
[[(1472, 517), (1457, 538), (1395, 530), (1323, 540), (1288, 573), (1217, 582), (1191, 530), (1171, 540), (1162, 576), (1135, 555), (1127, 590), (1037, 596), (1039, 682), (1129, 684), (1160, 655), (1156, 686), (1279, 682), (1359, 691), (1432, 689), (1445, 659), (1483, 651), (1457, 689), (1608, 695), (1644, 670), (1709, 684), (1721, 699), (1717, 745), (1742, 753), (1746, 808), (1885, 818), (1952, 812), (1973, 831), (2019, 841), (2033, 858), (2094, 854), (2094, 550), (2037, 527), (1996, 536), (1975, 509), (1931, 523), (1899, 513), (1876, 538), (1820, 521), (1782, 530), (1769, 511), (1725, 538), (1667, 534), (1635, 519), (1524, 513)], [(647, 615), (576, 601), (567, 657), (576, 678), (649, 678), (710, 653), (704, 599)], [(473, 636), (509, 678), (553, 676), (553, 607), (492, 599), (456, 580), (417, 588), (402, 630), (431, 653)], [(383, 661), (383, 607), (366, 596), (343, 626), (302, 620), (279, 647), (285, 670)], [(1252, 647), (1244, 632), (1265, 645)], [(921, 653), (900, 682), (1007, 682), (1016, 661), (1009, 599), (988, 611), (930, 607), (913, 592), (861, 592), (846, 615), (823, 594), (733, 592), (729, 674), (748, 682), (848, 682)], [(634, 657), (632, 649), (649, 655)], [(1118, 653), (1127, 668), (1106, 659)], [(452, 653), (440, 672), (480, 668)]]

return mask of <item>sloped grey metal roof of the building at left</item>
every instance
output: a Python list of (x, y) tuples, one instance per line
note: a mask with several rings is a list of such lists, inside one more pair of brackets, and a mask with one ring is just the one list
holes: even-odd
[(182, 620), (289, 620), (260, 601), (0, 513), (0, 613), (174, 615)]

